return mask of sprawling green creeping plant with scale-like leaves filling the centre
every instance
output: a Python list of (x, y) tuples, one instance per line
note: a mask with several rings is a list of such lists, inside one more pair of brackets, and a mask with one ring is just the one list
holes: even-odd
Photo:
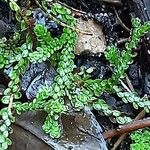
[[(52, 138), (61, 136), (60, 116), (70, 109), (81, 111), (85, 106), (89, 106), (91, 109), (102, 111), (106, 116), (114, 117), (120, 124), (130, 122), (130, 117), (124, 116), (118, 110), (113, 110), (100, 98), (103, 92), (118, 92), (118, 96), (123, 98), (125, 103), (130, 102), (135, 108), (139, 106), (147, 112), (149, 111), (150, 106), (146, 98), (140, 99), (136, 93), (121, 93), (122, 90), (115, 85), (120, 82), (120, 78), (124, 77), (125, 70), (132, 63), (132, 49), (136, 47), (141, 36), (150, 31), (150, 22), (141, 25), (139, 19), (132, 20), (134, 28), (131, 33), (131, 40), (126, 43), (125, 50), (120, 52), (116, 46), (109, 46), (105, 52), (105, 57), (113, 66), (112, 77), (105, 80), (93, 80), (90, 79), (89, 75), (91, 69), (82, 70), (80, 73), (73, 72), (77, 33), (75, 32), (76, 20), (71, 15), (70, 10), (57, 3), (51, 7), (49, 18), (63, 28), (59, 37), (53, 38), (44, 25), (36, 24), (33, 29), (36, 43), (32, 40), (32, 35), (26, 32), (26, 38), (20, 45), (22, 31), (29, 28), (27, 19), (31, 12), (29, 11), (25, 16), (22, 16), (20, 7), (15, 1), (9, 1), (9, 4), (10, 8), (16, 12), (21, 33), (15, 33), (9, 40), (5, 38), (0, 40), (0, 69), (10, 68), (8, 74), (10, 82), (1, 99), (1, 102), (7, 104), (8, 107), (0, 111), (2, 118), (0, 149), (7, 149), (11, 144), (8, 138), (9, 133), (11, 133), (10, 125), (14, 122), (11, 109), (14, 109), (18, 114), (28, 110), (45, 111), (47, 117), (43, 124), (43, 130)], [(41, 6), (45, 11), (47, 9), (46, 1), (41, 1)], [(19, 101), (21, 98), (20, 76), (30, 63), (45, 60), (55, 64), (57, 75), (54, 78), (54, 83), (50, 87), (42, 87), (32, 102), (21, 103)]]

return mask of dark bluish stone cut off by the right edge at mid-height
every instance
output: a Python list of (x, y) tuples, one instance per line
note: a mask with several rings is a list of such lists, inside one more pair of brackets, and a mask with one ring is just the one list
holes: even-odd
[(146, 74), (144, 78), (144, 94), (150, 96), (150, 74)]

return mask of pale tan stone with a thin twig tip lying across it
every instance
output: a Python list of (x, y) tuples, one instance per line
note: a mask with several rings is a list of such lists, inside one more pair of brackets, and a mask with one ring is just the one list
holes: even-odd
[(90, 52), (91, 54), (104, 52), (106, 41), (100, 25), (94, 23), (93, 20), (84, 21), (82, 18), (79, 18), (77, 28), (88, 34), (78, 33), (75, 54), (81, 54), (82, 52)]

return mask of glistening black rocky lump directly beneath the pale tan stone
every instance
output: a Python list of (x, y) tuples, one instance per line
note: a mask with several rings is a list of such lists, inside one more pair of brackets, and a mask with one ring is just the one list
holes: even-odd
[(85, 69), (93, 67), (94, 70), (91, 73), (92, 78), (103, 79), (106, 74), (106, 65), (103, 64), (99, 58), (91, 56), (78, 56), (75, 63), (77, 67), (84, 66)]

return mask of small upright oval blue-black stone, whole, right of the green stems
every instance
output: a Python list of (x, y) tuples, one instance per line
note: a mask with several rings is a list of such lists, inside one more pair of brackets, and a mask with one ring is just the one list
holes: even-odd
[(130, 65), (129, 67), (129, 77), (133, 86), (137, 87), (139, 85), (139, 66), (137, 63)]

